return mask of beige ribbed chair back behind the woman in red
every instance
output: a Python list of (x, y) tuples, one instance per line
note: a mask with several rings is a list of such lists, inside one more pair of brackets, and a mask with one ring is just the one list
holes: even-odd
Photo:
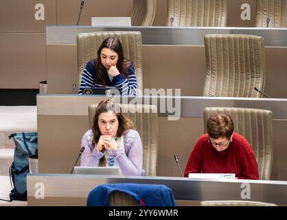
[(227, 113), (234, 123), (234, 131), (251, 144), (258, 164), (259, 179), (270, 179), (273, 160), (273, 113), (264, 109), (208, 107), (203, 110), (206, 124), (211, 115)]

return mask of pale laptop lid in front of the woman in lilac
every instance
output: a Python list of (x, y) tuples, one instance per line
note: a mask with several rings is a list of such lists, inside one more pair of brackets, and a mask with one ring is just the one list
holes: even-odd
[(106, 166), (74, 166), (75, 174), (120, 175), (119, 167)]

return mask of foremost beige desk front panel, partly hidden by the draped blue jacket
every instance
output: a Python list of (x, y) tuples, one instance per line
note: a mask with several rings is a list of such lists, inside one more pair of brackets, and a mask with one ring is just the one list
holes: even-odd
[[(287, 201), (287, 181), (28, 174), (27, 202), (28, 206), (86, 206), (93, 188), (117, 183), (164, 184), (172, 190), (174, 199), (183, 201), (246, 199), (276, 204)], [(242, 198), (242, 191), (250, 192), (250, 197)]]

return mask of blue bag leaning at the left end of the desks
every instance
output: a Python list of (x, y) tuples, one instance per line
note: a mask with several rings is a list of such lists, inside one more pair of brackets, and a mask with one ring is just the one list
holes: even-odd
[(13, 186), (10, 192), (10, 200), (27, 201), (27, 180), (29, 173), (30, 155), (38, 154), (38, 135), (36, 132), (12, 133), (15, 143), (14, 161), (10, 166), (10, 180)]

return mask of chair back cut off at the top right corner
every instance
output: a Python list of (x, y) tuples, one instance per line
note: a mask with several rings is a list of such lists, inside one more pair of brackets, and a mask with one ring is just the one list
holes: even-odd
[(287, 28), (286, 7), (287, 0), (256, 0), (255, 27)]

